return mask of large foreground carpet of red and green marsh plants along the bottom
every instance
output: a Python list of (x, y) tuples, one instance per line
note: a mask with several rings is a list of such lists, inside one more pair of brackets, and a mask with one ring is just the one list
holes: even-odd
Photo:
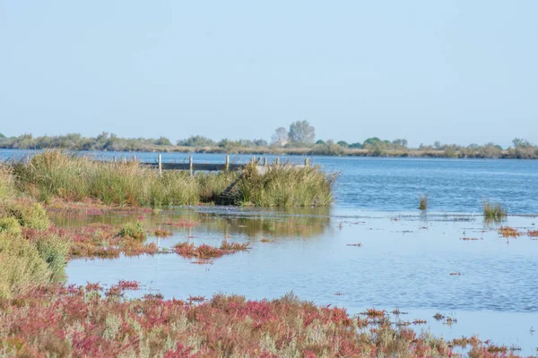
[(124, 298), (136, 288), (130, 281), (104, 292), (98, 284), (49, 286), (0, 301), (0, 347), (39, 358), (454, 356), (441, 339), (385, 321), (357, 329), (345, 310), (291, 294), (273, 301), (222, 294), (190, 302)]

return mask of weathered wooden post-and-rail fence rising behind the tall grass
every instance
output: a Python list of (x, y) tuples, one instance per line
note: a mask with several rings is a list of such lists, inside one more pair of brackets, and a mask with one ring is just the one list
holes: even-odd
[[(124, 159), (126, 160), (126, 158)], [(136, 156), (133, 156), (133, 160), (136, 160)], [(114, 161), (117, 161), (117, 158), (114, 157)], [(258, 170), (260, 172), (265, 172), (266, 166), (269, 166), (269, 161), (267, 158), (251, 158), (250, 164), (256, 164), (258, 165)], [(305, 158), (304, 165), (295, 165), (295, 167), (300, 166), (309, 166), (309, 160), (308, 158)], [(229, 171), (229, 170), (243, 170), (246, 164), (237, 164), (237, 163), (230, 163), (230, 156), (226, 156), (224, 164), (216, 164), (216, 163), (198, 163), (195, 165), (194, 159), (192, 157), (188, 158), (188, 163), (163, 163), (162, 162), (162, 155), (159, 154), (157, 157), (157, 163), (147, 163), (142, 162), (141, 165), (143, 166), (150, 166), (159, 169), (159, 174), (162, 175), (163, 170), (188, 170), (191, 175), (194, 175), (195, 170), (203, 170), (203, 171)], [(280, 166), (281, 161), (280, 158), (276, 158), (273, 162), (274, 166)]]

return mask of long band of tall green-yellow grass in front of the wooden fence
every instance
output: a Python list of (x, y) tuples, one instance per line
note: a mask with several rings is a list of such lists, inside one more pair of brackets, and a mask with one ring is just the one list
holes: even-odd
[[(191, 176), (182, 171), (165, 171), (160, 176), (136, 161), (105, 162), (61, 151), (38, 154), (28, 163), (17, 162), (13, 175), (22, 192), (39, 200), (91, 198), (106, 204), (152, 207), (219, 201), (221, 192), (239, 177), (232, 172)], [(255, 166), (247, 166), (233, 200), (226, 199), (237, 205), (322, 206), (332, 201), (333, 183), (334, 175), (325, 175), (318, 166), (271, 166), (265, 175), (258, 174)]]

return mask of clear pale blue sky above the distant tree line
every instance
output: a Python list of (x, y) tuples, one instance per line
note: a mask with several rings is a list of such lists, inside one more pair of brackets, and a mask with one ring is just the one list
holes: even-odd
[(0, 0), (0, 132), (538, 142), (538, 2)]

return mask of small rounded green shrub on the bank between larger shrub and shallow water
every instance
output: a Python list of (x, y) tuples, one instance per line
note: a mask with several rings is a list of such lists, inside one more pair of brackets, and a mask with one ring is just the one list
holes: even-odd
[(65, 268), (69, 257), (71, 242), (56, 234), (44, 234), (38, 236), (35, 241), (39, 256), (48, 264), (48, 268), (54, 275)]

